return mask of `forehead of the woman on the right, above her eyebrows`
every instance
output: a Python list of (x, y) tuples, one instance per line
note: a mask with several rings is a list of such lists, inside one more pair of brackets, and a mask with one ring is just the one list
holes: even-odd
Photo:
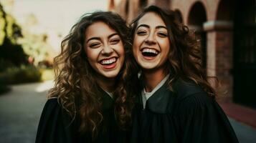
[(141, 19), (138, 20), (138, 26), (141, 24), (147, 24), (148, 26), (166, 26), (161, 16), (151, 11), (144, 14)]

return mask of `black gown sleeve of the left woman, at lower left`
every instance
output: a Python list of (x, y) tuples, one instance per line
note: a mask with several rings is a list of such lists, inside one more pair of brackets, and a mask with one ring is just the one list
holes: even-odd
[(62, 112), (57, 99), (48, 99), (39, 121), (36, 143), (71, 143), (70, 122), (69, 116)]

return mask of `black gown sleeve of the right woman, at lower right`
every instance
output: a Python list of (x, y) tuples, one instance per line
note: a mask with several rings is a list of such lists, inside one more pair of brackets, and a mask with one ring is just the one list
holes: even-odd
[(223, 110), (207, 94), (197, 93), (186, 97), (177, 111), (175, 118), (180, 142), (238, 142)]

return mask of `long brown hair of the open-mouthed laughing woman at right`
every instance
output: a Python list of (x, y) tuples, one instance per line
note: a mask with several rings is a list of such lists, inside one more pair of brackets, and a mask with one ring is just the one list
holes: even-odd
[(166, 74), (169, 76), (169, 87), (177, 79), (184, 81), (194, 81), (199, 84), (204, 91), (210, 96), (215, 97), (216, 92), (209, 84), (208, 79), (217, 79), (216, 77), (207, 77), (205, 69), (202, 68), (202, 50), (199, 40), (196, 39), (194, 32), (189, 31), (189, 28), (179, 22), (174, 11), (161, 9), (158, 6), (148, 6), (143, 9), (136, 19), (131, 23), (132, 42), (138, 21), (148, 12), (154, 12), (161, 16), (167, 26), (170, 41), (169, 59), (166, 61)]

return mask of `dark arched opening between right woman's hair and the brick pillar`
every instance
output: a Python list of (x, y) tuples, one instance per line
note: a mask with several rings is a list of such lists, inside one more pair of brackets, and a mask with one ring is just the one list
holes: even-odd
[(202, 66), (207, 68), (207, 35), (203, 29), (204, 22), (207, 21), (206, 11), (201, 2), (196, 2), (189, 11), (189, 29), (195, 30), (196, 36), (201, 40)]

